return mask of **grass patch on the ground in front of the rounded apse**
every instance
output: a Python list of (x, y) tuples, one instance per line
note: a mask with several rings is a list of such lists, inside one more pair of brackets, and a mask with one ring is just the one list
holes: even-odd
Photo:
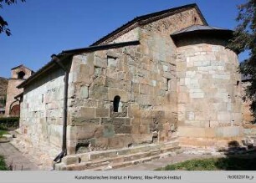
[(226, 157), (187, 160), (156, 170), (256, 170), (256, 157)]

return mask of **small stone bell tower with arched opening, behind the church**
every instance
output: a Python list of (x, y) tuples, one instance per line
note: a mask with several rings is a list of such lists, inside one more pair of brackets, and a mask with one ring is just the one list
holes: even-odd
[(18, 65), (11, 69), (11, 78), (8, 79), (5, 116), (19, 116), (20, 99), (18, 97), (23, 93), (23, 89), (18, 89), (17, 86), (32, 74), (33, 70), (28, 69), (24, 65)]

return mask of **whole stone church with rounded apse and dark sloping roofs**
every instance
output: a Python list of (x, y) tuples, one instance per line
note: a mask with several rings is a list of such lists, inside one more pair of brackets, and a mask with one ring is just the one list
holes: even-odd
[(59, 170), (118, 167), (180, 145), (241, 140), (233, 31), (196, 4), (134, 18), (88, 48), (65, 50), (19, 84), (20, 130)]

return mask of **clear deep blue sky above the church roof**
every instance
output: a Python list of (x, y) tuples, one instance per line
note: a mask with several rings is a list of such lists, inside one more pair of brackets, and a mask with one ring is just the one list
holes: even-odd
[[(236, 27), (246, 0), (26, 0), (3, 6), (12, 36), (0, 34), (0, 76), (24, 64), (37, 71), (62, 50), (88, 47), (137, 16), (197, 3), (211, 26)], [(239, 59), (246, 58), (242, 54)]]

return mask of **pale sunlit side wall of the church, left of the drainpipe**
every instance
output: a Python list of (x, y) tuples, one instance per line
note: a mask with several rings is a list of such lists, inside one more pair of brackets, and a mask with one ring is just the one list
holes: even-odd
[[(72, 72), (69, 77), (72, 79)], [(27, 145), (52, 158), (59, 154), (62, 145), (63, 99), (64, 71), (56, 67), (24, 89), (21, 104), (20, 130), (27, 137)]]

